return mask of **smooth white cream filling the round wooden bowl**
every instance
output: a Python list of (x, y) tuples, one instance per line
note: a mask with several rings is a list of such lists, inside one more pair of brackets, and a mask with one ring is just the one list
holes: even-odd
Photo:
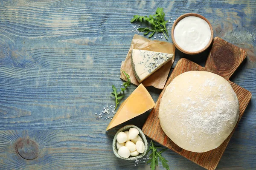
[(181, 48), (180, 51), (185, 51), (186, 54), (202, 52), (205, 47), (209, 46), (209, 41), (213, 37), (207, 21), (195, 16), (187, 16), (178, 21), (173, 35), (177, 48)]

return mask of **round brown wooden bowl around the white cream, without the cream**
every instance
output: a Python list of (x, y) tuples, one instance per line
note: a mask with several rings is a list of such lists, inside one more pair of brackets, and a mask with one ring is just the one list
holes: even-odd
[[(203, 20), (205, 20), (205, 21), (209, 24), (209, 27), (210, 27), (210, 29), (211, 29), (211, 38), (210, 38), (208, 44), (207, 44), (203, 49), (201, 49), (201, 50), (199, 50), (199, 51), (186, 51), (186, 50), (184, 50), (184, 49), (181, 48), (179, 45), (177, 45), (177, 43), (176, 43), (176, 41), (175, 41), (175, 38), (174, 38), (174, 28), (175, 28), (175, 26), (177, 25), (177, 23), (178, 23), (180, 20), (182, 20), (183, 18), (189, 17), (189, 16), (194, 16), (194, 17), (202, 18)], [(178, 48), (181, 52), (183, 52), (183, 53), (185, 53), (185, 54), (191, 54), (191, 55), (193, 55), (193, 54), (199, 54), (199, 53), (203, 52), (204, 50), (206, 50), (206, 49), (211, 45), (212, 39), (213, 39), (213, 30), (212, 30), (212, 25), (211, 25), (211, 23), (210, 23), (205, 17), (203, 17), (202, 15), (195, 14), (195, 13), (186, 13), (186, 14), (183, 14), (183, 15), (181, 15), (180, 17), (178, 17), (178, 18), (175, 20), (175, 22), (173, 23), (173, 26), (172, 26), (172, 33), (171, 33), (171, 34), (172, 34), (172, 42), (173, 42), (173, 44), (175, 45), (175, 47)]]

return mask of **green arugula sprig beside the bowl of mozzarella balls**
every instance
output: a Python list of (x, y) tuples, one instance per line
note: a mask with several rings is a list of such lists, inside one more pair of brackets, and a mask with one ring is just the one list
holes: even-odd
[(158, 166), (157, 158), (159, 158), (159, 161), (162, 162), (163, 167), (166, 168), (166, 170), (170, 170), (169, 165), (167, 164), (168, 161), (162, 156), (162, 153), (164, 151), (166, 151), (167, 149), (162, 149), (158, 152), (157, 151), (158, 148), (162, 148), (162, 147), (156, 147), (151, 140), (150, 147), (148, 148), (147, 153), (146, 153), (146, 154), (148, 154), (148, 152), (151, 151), (151, 154), (149, 155), (149, 160), (147, 161), (147, 164), (150, 163), (151, 170), (155, 170), (156, 166)]

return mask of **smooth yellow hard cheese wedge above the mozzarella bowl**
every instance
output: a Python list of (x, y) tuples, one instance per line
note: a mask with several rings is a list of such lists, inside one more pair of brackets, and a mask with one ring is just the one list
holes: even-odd
[(155, 103), (147, 89), (140, 84), (132, 94), (120, 105), (106, 130), (145, 113), (154, 108)]

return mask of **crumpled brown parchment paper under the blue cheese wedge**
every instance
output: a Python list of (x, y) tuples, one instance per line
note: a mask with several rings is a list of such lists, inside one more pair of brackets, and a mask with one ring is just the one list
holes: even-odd
[[(122, 71), (125, 71), (130, 75), (131, 83), (134, 85), (139, 85), (140, 83), (134, 76), (132, 67), (131, 67), (131, 51), (132, 49), (140, 49), (140, 50), (148, 50), (148, 51), (156, 51), (162, 53), (173, 54), (172, 60), (159, 68), (156, 72), (154, 72), (150, 77), (145, 79), (142, 84), (146, 86), (154, 86), (155, 88), (163, 89), (169, 71), (172, 67), (175, 57), (175, 46), (170, 42), (158, 41), (158, 40), (148, 40), (145, 37), (135, 34), (132, 41), (131, 47), (128, 51), (125, 61), (122, 61), (121, 69), (120, 69), (120, 78), (123, 80), (127, 80), (125, 74)], [(121, 71), (122, 70), (122, 71)]]

